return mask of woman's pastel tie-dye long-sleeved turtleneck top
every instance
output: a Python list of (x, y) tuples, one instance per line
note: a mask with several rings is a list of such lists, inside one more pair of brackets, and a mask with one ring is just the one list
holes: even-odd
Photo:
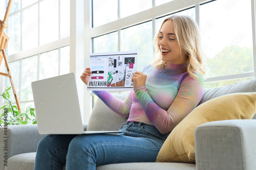
[(147, 65), (143, 70), (147, 75), (145, 86), (135, 87), (125, 101), (108, 91), (93, 92), (115, 113), (129, 117), (127, 122), (154, 125), (166, 134), (195, 109), (204, 93), (204, 79), (200, 74), (198, 79), (193, 79), (187, 72), (180, 73), (186, 63), (168, 65), (172, 69)]

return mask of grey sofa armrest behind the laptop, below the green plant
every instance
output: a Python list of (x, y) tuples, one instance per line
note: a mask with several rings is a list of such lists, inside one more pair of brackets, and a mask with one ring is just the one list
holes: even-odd
[(38, 133), (36, 124), (8, 125), (6, 134), (4, 127), (0, 127), (0, 169), (4, 169), (6, 155), (8, 159), (17, 154), (36, 152), (39, 141), (45, 136)]

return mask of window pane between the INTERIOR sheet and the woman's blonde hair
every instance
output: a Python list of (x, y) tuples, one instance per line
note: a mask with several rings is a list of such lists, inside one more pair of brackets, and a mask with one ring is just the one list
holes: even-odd
[(121, 30), (121, 51), (132, 50), (138, 51), (138, 71), (153, 61), (152, 21)]

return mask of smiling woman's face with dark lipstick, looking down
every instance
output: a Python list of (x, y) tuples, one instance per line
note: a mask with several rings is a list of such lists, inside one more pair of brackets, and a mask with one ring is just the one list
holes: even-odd
[(157, 39), (157, 45), (161, 50), (162, 61), (167, 61), (171, 64), (183, 64), (187, 62), (187, 55), (183, 50), (180, 55), (173, 21), (167, 20), (164, 22)]

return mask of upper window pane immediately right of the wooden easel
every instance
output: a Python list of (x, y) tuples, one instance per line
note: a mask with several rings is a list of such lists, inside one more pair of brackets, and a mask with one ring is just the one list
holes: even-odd
[(8, 17), (8, 55), (17, 53), (20, 51), (20, 13)]

